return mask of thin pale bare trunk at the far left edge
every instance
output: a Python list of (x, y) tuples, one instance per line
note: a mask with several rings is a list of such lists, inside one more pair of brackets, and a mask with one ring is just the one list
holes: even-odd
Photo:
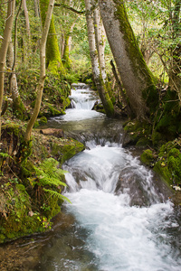
[(15, 0), (8, 2), (4, 39), (0, 49), (0, 137), (1, 137), (1, 112), (4, 96), (5, 58), (14, 23), (14, 8)]

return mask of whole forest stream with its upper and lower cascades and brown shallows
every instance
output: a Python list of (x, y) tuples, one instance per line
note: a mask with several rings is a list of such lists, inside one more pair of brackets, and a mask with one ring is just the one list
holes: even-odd
[(70, 98), (66, 115), (48, 126), (86, 149), (63, 164), (71, 204), (64, 203), (53, 229), (16, 244), (27, 251), (33, 244), (31, 253), (41, 247), (24, 270), (180, 271), (181, 213), (167, 186), (140, 163), (140, 150), (122, 147), (124, 120), (91, 110), (95, 91), (82, 84)]

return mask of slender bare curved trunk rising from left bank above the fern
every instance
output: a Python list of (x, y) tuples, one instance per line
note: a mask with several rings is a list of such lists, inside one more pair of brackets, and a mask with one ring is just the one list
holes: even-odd
[(26, 143), (31, 140), (33, 125), (34, 125), (36, 118), (38, 117), (38, 114), (40, 112), (41, 103), (42, 103), (43, 85), (44, 85), (44, 79), (46, 77), (46, 73), (45, 73), (45, 69), (46, 69), (46, 67), (45, 67), (46, 41), (47, 41), (47, 37), (48, 37), (48, 33), (49, 33), (51, 20), (52, 20), (53, 6), (54, 6), (54, 0), (50, 0), (49, 5), (48, 5), (48, 9), (47, 9), (47, 13), (46, 13), (46, 18), (43, 23), (43, 34), (42, 34), (42, 39), (41, 39), (41, 43), (40, 43), (40, 79), (39, 79), (39, 83), (37, 86), (35, 107), (33, 109), (33, 115), (27, 124), (25, 135), (24, 135), (24, 140)]

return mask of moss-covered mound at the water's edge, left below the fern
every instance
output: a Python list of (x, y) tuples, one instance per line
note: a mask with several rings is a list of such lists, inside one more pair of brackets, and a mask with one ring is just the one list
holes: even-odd
[(31, 198), (24, 185), (14, 185), (14, 182), (14, 179), (6, 182), (0, 192), (4, 199), (1, 201), (0, 242), (43, 231), (37, 216), (30, 216)]

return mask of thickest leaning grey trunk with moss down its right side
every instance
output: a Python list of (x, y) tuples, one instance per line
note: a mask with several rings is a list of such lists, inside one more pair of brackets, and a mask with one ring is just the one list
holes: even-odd
[(157, 91), (129, 24), (123, 1), (99, 0), (100, 14), (123, 87), (135, 117), (147, 118), (157, 104)]

